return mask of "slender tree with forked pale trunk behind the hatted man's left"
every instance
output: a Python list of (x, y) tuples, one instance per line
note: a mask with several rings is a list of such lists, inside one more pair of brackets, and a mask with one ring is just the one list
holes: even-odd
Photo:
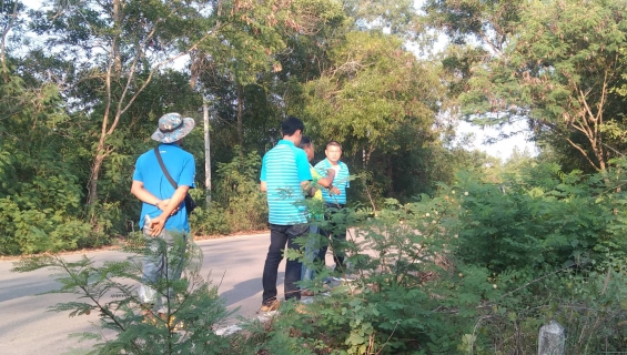
[(68, 92), (100, 124), (93, 132), (88, 204), (99, 200), (101, 169), (118, 149), (111, 139), (128, 110), (156, 73), (214, 36), (214, 23), (203, 16), (209, 10), (205, 2), (112, 0), (89, 7), (51, 2), (32, 13), (34, 31), (49, 36), (47, 45), (75, 62), (75, 81), (68, 84), (93, 83), (91, 97)]

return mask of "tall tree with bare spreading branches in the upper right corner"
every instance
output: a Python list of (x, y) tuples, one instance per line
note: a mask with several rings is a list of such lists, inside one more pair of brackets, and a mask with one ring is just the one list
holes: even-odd
[[(538, 141), (568, 145), (588, 169), (604, 171), (625, 148), (613, 139), (611, 131), (623, 126), (623, 100), (611, 89), (626, 69), (620, 61), (626, 4), (433, 1), (426, 9), (454, 40), (475, 37), (484, 48), (464, 72), (469, 77), (461, 105), (467, 120), (489, 125), (528, 120)], [(445, 21), (456, 18), (454, 24)]]

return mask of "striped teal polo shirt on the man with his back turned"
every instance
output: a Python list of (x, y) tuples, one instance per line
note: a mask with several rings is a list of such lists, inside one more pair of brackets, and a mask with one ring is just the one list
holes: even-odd
[(294, 143), (281, 140), (263, 155), (261, 181), (267, 186), (269, 222), (294, 225), (307, 222), (301, 182), (312, 180), (307, 154)]

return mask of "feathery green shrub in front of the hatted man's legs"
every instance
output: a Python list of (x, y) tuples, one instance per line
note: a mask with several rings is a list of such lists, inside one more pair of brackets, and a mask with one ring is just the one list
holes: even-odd
[[(98, 342), (89, 354), (229, 354), (229, 339), (212, 329), (230, 313), (218, 288), (200, 275), (202, 251), (193, 242), (181, 247), (185, 243), (182, 237), (175, 239), (170, 251), (163, 240), (150, 241), (159, 242), (158, 252), (166, 260), (183, 258), (183, 278), (142, 281), (142, 257), (155, 252), (139, 233), (124, 247), (130, 257), (123, 262), (95, 265), (88, 257), (70, 263), (59, 256), (34, 256), (16, 262), (12, 271), (51, 267), (55, 271), (54, 280), (62, 286), (50, 293), (80, 295), (79, 300), (59, 303), (51, 311), (69, 312), (70, 316), (100, 314), (100, 326), (110, 332), (107, 336), (100, 332), (81, 334)], [(136, 293), (140, 282), (164, 298), (163, 318), (152, 311), (144, 314), (145, 306)]]

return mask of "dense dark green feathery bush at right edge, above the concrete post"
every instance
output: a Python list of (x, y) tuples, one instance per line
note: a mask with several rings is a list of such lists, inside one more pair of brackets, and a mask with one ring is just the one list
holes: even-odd
[[(624, 192), (608, 175), (564, 174), (538, 165), (502, 184), (462, 175), (458, 256), (495, 273), (523, 267), (563, 266), (608, 254), (625, 255)], [(459, 194), (463, 191), (463, 195)]]

